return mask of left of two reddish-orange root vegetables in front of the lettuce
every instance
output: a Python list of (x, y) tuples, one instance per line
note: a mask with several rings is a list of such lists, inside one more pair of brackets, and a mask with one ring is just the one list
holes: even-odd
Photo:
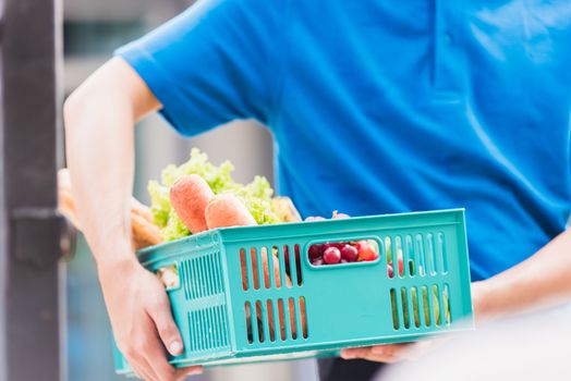
[(197, 174), (183, 175), (170, 188), (172, 208), (193, 234), (208, 229), (205, 210), (214, 197), (210, 186)]

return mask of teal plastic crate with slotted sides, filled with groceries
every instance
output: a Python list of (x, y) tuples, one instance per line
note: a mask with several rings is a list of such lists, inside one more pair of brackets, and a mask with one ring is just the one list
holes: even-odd
[[(356, 239), (374, 239), (379, 258), (311, 265), (311, 245)], [(259, 263), (271, 253), (279, 276), (269, 261), (265, 279)], [(390, 278), (398, 255), (403, 271), (394, 263)], [(139, 259), (153, 272), (178, 271), (179, 285), (167, 290), (184, 342), (169, 358), (177, 367), (325, 357), (473, 327), (463, 209), (217, 229)], [(117, 347), (116, 367), (132, 372)]]

